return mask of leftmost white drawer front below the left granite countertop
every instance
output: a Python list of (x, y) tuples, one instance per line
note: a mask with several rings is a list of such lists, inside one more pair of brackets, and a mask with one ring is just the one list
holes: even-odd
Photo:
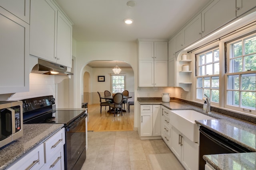
[(44, 145), (30, 151), (7, 170), (39, 170), (44, 165)]

